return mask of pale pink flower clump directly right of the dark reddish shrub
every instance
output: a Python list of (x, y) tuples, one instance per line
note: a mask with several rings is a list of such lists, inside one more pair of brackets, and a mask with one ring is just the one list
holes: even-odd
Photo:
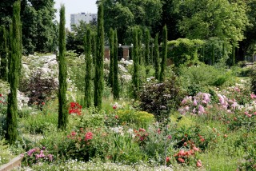
[(187, 96), (182, 100), (182, 107), (178, 112), (185, 115), (202, 115), (206, 113), (206, 107), (210, 107), (210, 93), (198, 93), (194, 97)]

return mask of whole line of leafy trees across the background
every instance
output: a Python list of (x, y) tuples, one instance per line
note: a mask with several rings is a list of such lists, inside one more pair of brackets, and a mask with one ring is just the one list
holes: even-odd
[[(0, 2), (0, 22), (7, 28), (13, 3), (14, 0)], [(150, 30), (153, 43), (157, 33), (162, 40), (162, 28), (166, 25), (169, 41), (178, 38), (219, 40), (224, 42), (227, 54), (234, 51), (237, 61), (255, 51), (256, 0), (105, 0), (103, 6), (104, 30), (110, 33), (110, 28), (116, 29), (118, 43), (122, 45), (132, 43), (134, 26)], [(23, 54), (56, 49), (58, 23), (54, 22), (55, 11), (54, 0), (22, 0)], [(97, 22), (81, 22), (79, 26), (73, 26), (73, 32), (67, 32), (67, 50), (82, 53), (82, 38), (88, 25), (94, 32)], [(105, 37), (108, 45), (108, 35)], [(146, 36), (142, 36), (142, 42), (146, 42), (144, 38)]]

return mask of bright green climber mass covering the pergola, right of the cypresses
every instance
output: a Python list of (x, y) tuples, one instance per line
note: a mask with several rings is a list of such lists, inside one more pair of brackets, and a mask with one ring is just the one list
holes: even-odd
[(198, 39), (178, 38), (167, 43), (172, 48), (168, 52), (168, 58), (174, 60), (175, 66), (181, 64), (194, 64), (198, 62), (198, 49), (204, 44), (204, 41)]

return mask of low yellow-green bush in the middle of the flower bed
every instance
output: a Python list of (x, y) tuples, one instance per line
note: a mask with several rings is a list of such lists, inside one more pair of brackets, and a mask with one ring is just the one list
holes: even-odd
[(117, 116), (120, 124), (134, 124), (146, 127), (154, 122), (154, 115), (145, 111), (118, 110)]

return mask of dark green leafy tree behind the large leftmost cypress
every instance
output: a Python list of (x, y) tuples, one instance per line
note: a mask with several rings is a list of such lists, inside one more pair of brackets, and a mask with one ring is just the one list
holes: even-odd
[[(9, 28), (14, 0), (0, 2), (0, 22)], [(57, 24), (54, 23), (54, 0), (22, 0), (23, 53), (52, 52), (57, 46)]]

